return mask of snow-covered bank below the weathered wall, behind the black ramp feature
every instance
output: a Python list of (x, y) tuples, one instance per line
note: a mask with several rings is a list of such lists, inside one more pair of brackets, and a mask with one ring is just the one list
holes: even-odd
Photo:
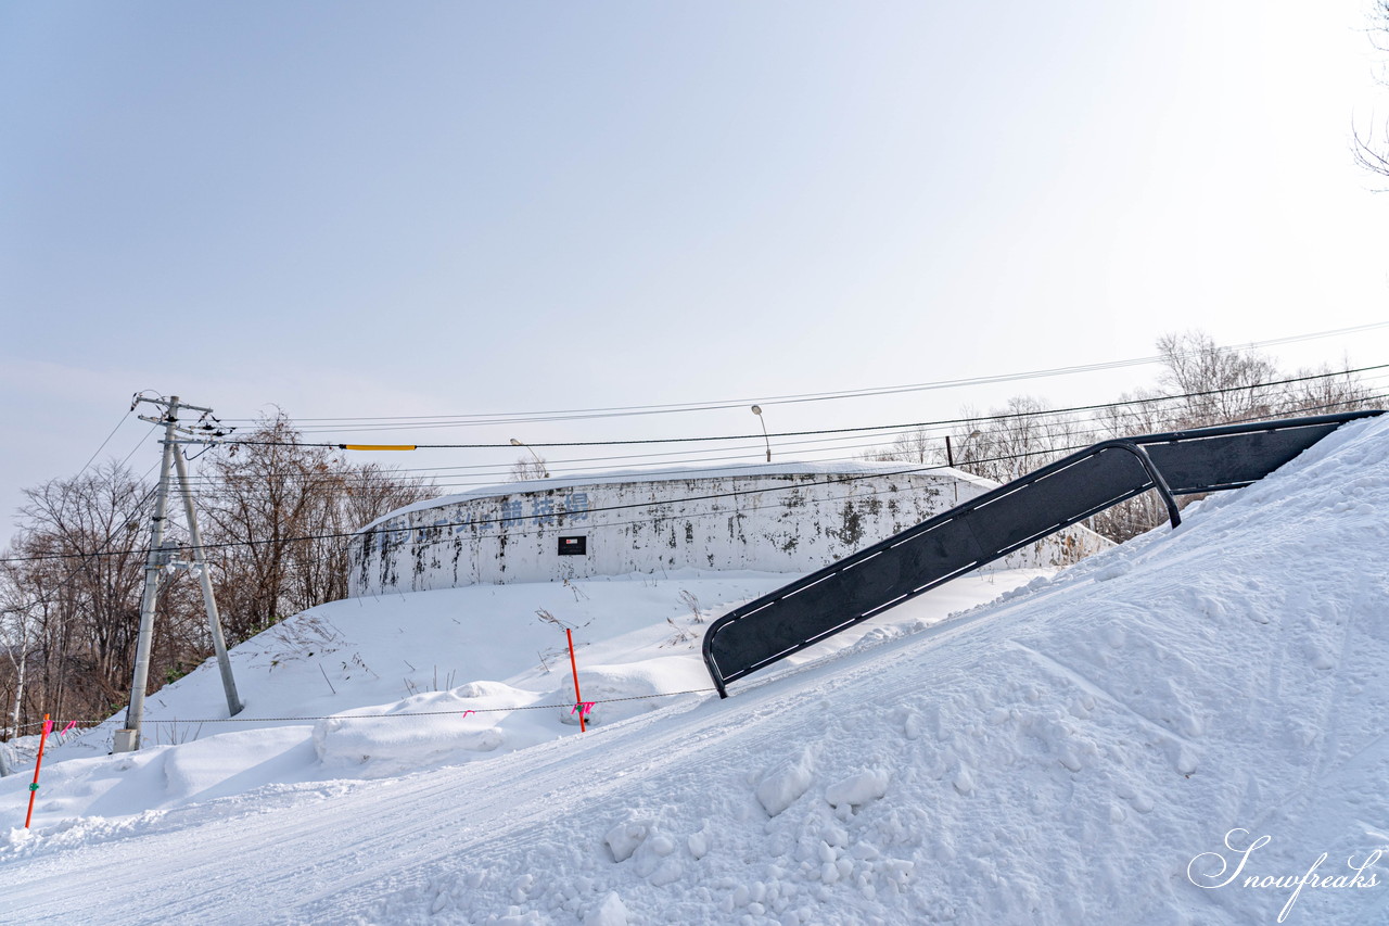
[[(840, 634), (943, 620), (1050, 570), (1000, 570)], [(479, 762), (576, 731), (564, 626), (572, 627), (589, 726), (708, 691), (699, 658), (710, 613), (776, 588), (779, 573), (683, 573), (486, 585), (357, 598), (314, 608), (231, 652), (246, 709), (228, 720), (208, 660), (147, 702), (144, 748), (111, 756), (124, 713), (50, 738), (39, 827), (242, 794), (265, 784), (401, 774)], [(65, 727), (60, 717), (57, 727)], [(25, 737), (32, 752), (38, 736)], [(28, 777), (0, 779), (22, 808)], [(22, 811), (21, 811), (22, 819)]]

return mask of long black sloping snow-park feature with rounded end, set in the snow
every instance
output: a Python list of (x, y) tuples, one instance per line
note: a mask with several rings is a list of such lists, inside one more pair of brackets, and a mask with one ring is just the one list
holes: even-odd
[(704, 634), (704, 665), (726, 698), (729, 681), (1147, 489), (1176, 527), (1175, 496), (1243, 488), (1346, 421), (1376, 414), (1103, 441), (728, 612)]

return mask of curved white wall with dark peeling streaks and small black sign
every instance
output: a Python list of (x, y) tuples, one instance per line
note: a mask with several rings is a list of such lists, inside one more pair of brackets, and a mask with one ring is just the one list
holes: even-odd
[[(954, 471), (740, 470), (690, 478), (546, 480), (411, 506), (354, 541), (354, 595), (669, 569), (806, 573), (990, 487)], [(563, 556), (560, 538), (585, 553)], [(1010, 556), (1060, 566), (1107, 545), (1081, 528)]]

